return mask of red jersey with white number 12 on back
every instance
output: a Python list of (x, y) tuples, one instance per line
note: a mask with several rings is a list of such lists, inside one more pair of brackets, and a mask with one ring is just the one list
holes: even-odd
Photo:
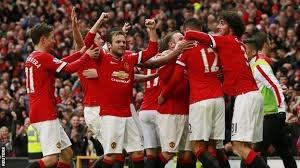
[(177, 60), (187, 70), (190, 83), (190, 104), (223, 96), (217, 78), (220, 69), (217, 53), (207, 45), (197, 44), (186, 50)]

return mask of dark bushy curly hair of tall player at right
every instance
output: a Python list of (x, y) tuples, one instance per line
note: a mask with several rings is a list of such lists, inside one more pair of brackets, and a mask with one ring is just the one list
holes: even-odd
[(245, 32), (245, 24), (242, 18), (233, 11), (222, 11), (219, 20), (225, 20), (229, 27), (233, 30), (233, 33), (241, 38)]

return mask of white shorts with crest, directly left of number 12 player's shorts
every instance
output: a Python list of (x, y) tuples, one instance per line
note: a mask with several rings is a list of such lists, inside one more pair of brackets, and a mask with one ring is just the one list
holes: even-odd
[(192, 150), (187, 115), (158, 114), (157, 125), (162, 152)]

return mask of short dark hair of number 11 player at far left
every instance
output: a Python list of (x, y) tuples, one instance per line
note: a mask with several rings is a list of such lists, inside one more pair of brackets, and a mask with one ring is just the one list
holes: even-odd
[(30, 31), (30, 37), (34, 45), (37, 45), (41, 38), (49, 37), (50, 33), (53, 31), (53, 26), (46, 23), (39, 23), (35, 25)]

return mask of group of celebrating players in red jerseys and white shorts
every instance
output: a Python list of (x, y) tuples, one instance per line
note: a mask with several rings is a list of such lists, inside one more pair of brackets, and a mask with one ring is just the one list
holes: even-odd
[[(124, 150), (134, 168), (163, 168), (175, 154), (180, 168), (196, 167), (197, 160), (204, 168), (230, 167), (216, 152), (225, 138), (224, 94), (235, 97), (233, 152), (246, 167), (269, 167), (251, 148), (263, 140), (263, 97), (249, 67), (248, 47), (240, 41), (245, 26), (237, 13), (220, 15), (216, 35), (201, 32), (197, 19), (186, 20), (184, 35), (170, 32), (160, 45), (155, 20), (146, 19), (149, 43), (138, 53), (126, 50), (122, 28), (110, 30), (103, 42), (97, 30), (107, 19), (102, 13), (83, 39), (73, 10), (77, 52), (61, 60), (50, 54), (53, 27), (37, 24), (31, 30), (35, 51), (26, 60), (26, 85), (30, 121), (44, 157), (28, 168), (71, 167), (71, 142), (57, 118), (53, 94), (60, 71), (77, 72), (80, 78), (85, 122), (104, 149), (94, 167), (123, 167)], [(144, 75), (135, 74), (136, 67)], [(134, 82), (145, 83), (138, 115), (132, 104)]]

